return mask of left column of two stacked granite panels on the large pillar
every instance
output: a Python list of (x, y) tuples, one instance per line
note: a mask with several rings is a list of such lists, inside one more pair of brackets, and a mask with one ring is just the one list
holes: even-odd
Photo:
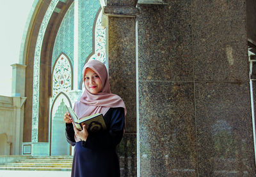
[(196, 176), (190, 1), (138, 8), (140, 176)]

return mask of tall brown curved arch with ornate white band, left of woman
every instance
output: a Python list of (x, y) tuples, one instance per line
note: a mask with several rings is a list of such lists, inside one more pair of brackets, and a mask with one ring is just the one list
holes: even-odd
[(48, 139), (48, 132), (45, 130), (48, 128), (49, 107), (45, 109), (45, 105), (49, 105), (48, 98), (51, 95), (49, 66), (52, 41), (55, 39), (61, 19), (73, 1), (38, 0), (33, 3), (29, 14), (20, 46), (20, 63), (27, 66), (25, 96), (28, 99), (24, 108), (24, 132), (31, 132), (31, 135), (23, 136), (24, 142), (46, 142)]

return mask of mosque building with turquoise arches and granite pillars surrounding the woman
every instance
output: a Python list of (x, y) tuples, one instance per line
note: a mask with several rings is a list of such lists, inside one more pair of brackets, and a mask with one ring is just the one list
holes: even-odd
[(0, 155), (72, 155), (63, 115), (104, 62), (123, 176), (255, 176), (256, 3), (38, 0), (1, 97)]

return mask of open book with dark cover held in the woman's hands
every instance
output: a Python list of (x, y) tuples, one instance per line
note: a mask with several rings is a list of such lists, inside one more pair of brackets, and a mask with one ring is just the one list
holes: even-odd
[(86, 125), (86, 130), (88, 131), (89, 134), (90, 132), (99, 132), (107, 129), (102, 113), (97, 113), (95, 115), (90, 115), (90, 116), (78, 119), (76, 113), (72, 110), (72, 108), (67, 106), (67, 110), (70, 113), (70, 116), (73, 122), (75, 123), (76, 128), (79, 131), (83, 130), (84, 124)]

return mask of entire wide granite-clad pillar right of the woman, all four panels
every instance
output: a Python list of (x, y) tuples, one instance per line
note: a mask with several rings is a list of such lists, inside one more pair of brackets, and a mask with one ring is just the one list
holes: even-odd
[(138, 176), (255, 176), (245, 0), (138, 9)]

